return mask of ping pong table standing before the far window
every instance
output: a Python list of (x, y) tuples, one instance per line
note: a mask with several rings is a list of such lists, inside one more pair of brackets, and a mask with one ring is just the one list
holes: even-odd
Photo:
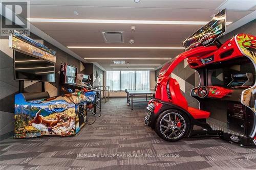
[[(127, 94), (127, 106), (130, 106), (130, 103), (131, 103), (132, 110), (133, 110), (133, 104), (134, 103), (148, 102), (155, 94), (155, 91), (153, 91), (153, 90), (129, 90), (129, 89), (125, 89), (125, 92)], [(140, 98), (140, 99), (136, 100), (134, 98)]]

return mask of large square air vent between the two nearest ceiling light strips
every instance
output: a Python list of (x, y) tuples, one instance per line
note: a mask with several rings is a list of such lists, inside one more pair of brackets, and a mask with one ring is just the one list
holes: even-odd
[(102, 35), (106, 43), (123, 43), (122, 31), (102, 31)]

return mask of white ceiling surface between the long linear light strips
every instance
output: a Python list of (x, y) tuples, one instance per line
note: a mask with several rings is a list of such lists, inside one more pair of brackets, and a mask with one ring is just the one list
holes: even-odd
[[(236, 1), (236, 0), (234, 0)], [(224, 0), (201, 1), (30, 1), (30, 18), (129, 19), (209, 21)], [(245, 1), (240, 1), (246, 3)], [(254, 3), (256, 1), (249, 1)], [(255, 10), (227, 10), (227, 21), (236, 22)], [(78, 15), (74, 14), (78, 12)], [(232, 25), (231, 23), (231, 25)], [(197, 31), (200, 25), (131, 25), (106, 23), (32, 22), (38, 29), (65, 46), (182, 46), (182, 40)], [(131, 26), (136, 26), (133, 32)], [(124, 43), (105, 43), (101, 31), (123, 31)], [(134, 44), (129, 40), (134, 39)], [(97, 58), (173, 58), (183, 50), (139, 49), (70, 49), (81, 58), (95, 58), (106, 70), (127, 66), (110, 66), (112, 60)], [(126, 60), (130, 64), (163, 64), (166, 60)], [(129, 66), (156, 68), (157, 66)]]

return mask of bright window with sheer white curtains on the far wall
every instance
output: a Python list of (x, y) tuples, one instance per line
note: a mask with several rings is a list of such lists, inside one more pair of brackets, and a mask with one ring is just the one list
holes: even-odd
[(106, 86), (111, 91), (150, 89), (150, 71), (106, 71)]

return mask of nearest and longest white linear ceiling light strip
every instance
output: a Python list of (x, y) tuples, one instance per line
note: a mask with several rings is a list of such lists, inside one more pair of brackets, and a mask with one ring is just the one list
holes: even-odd
[[(161, 25), (206, 25), (208, 21), (176, 20), (113, 20), (113, 19), (63, 19), (63, 18), (27, 18), (30, 22), (67, 22), (67, 23), (129, 23)], [(229, 25), (231, 22), (226, 22)]]

